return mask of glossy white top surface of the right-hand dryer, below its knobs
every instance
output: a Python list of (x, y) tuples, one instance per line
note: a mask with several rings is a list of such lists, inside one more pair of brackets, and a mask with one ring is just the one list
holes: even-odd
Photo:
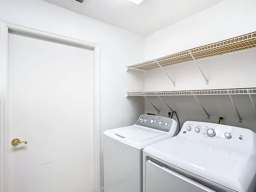
[(252, 154), (179, 136), (147, 146), (143, 151), (237, 192), (247, 191), (256, 173), (256, 157)]

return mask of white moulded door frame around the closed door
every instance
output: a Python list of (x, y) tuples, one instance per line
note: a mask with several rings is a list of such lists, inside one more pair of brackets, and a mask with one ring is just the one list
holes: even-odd
[(94, 51), (94, 131), (93, 170), (94, 192), (101, 191), (100, 181), (100, 45), (5, 20), (0, 21), (0, 191), (10, 192), (9, 128), (8, 128), (8, 34), (9, 31), (37, 36)]

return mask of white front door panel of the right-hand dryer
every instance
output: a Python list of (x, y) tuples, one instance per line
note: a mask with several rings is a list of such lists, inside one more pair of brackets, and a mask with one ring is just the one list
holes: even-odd
[(173, 170), (146, 161), (146, 192), (216, 192)]

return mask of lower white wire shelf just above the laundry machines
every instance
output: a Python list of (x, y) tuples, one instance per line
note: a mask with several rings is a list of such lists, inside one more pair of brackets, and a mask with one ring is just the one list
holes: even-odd
[(242, 94), (256, 94), (256, 88), (163, 91), (163, 92), (128, 92), (126, 93), (126, 96), (242, 95)]

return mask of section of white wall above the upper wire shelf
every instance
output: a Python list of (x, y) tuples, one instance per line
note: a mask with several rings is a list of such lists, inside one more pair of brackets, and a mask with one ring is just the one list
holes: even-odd
[(145, 60), (256, 30), (255, 0), (224, 0), (145, 38)]

